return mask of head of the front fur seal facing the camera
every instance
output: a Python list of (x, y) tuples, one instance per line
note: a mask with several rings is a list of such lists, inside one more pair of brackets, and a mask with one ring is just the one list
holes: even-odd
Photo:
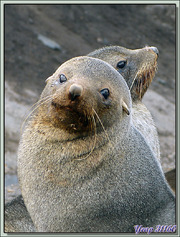
[(62, 64), (46, 82), (41, 100), (47, 98), (48, 102), (40, 106), (41, 117), (72, 136), (85, 135), (92, 130), (93, 120), (98, 132), (102, 130), (99, 119), (107, 128), (117, 118), (130, 114), (131, 99), (126, 82), (102, 60), (87, 56), (73, 58)]

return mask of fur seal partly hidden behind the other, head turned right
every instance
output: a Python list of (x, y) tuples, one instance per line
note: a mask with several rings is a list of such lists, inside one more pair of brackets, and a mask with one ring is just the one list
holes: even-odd
[(134, 126), (146, 138), (155, 156), (160, 160), (160, 146), (154, 120), (142, 103), (157, 68), (158, 49), (126, 49), (120, 46), (109, 46), (88, 54), (111, 64), (125, 79), (131, 91), (132, 119)]

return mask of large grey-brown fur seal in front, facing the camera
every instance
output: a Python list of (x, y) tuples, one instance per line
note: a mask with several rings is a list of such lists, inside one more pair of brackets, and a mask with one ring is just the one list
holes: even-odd
[(40, 232), (175, 223), (174, 196), (131, 123), (127, 84), (99, 59), (71, 59), (47, 80), (20, 142), (18, 176)]

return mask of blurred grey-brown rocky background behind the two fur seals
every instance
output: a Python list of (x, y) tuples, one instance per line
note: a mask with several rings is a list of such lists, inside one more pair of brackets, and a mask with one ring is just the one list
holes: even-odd
[(63, 62), (108, 45), (159, 49), (144, 96), (155, 120), (164, 171), (175, 167), (175, 5), (4, 5), (5, 199), (20, 193), (20, 127)]

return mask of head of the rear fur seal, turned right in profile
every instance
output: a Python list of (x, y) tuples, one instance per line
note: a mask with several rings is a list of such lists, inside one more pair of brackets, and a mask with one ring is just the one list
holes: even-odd
[(142, 99), (147, 91), (157, 68), (159, 51), (156, 47), (126, 49), (109, 46), (88, 54), (111, 64), (126, 80), (132, 100)]

